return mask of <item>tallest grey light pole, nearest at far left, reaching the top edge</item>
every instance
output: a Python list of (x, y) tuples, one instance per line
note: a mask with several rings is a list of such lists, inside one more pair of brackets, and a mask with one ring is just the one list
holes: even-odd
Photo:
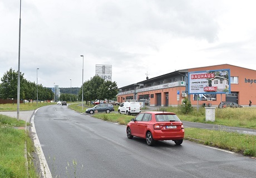
[(19, 120), (19, 95), (21, 92), (21, 0), (19, 1), (19, 51), (18, 51), (18, 84), (17, 84), (17, 120)]

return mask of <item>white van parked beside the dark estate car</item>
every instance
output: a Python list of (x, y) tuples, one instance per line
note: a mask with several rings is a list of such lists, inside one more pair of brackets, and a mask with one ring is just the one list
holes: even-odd
[(118, 107), (118, 112), (125, 113), (126, 115), (137, 115), (141, 111), (139, 102), (122, 102)]

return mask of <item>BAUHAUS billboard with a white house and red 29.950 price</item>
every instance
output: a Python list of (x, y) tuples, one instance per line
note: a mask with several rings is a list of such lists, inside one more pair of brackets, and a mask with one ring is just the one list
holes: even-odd
[(189, 94), (230, 93), (230, 70), (189, 72)]

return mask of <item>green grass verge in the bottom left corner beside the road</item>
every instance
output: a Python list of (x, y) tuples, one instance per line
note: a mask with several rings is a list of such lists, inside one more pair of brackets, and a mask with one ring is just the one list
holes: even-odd
[[(0, 177), (37, 177), (33, 158), (30, 156), (33, 142), (23, 128), (25, 125), (26, 122), (22, 120), (0, 115)], [(28, 160), (24, 156), (25, 144)]]

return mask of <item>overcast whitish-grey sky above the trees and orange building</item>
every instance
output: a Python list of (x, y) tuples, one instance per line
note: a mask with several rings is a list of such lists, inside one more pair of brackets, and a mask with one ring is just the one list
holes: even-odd
[[(186, 68), (256, 70), (256, 1), (22, 0), (21, 72), (44, 87), (81, 87), (112, 65), (124, 87)], [(0, 1), (0, 77), (18, 71), (19, 1)], [(70, 82), (70, 79), (72, 80)]]

